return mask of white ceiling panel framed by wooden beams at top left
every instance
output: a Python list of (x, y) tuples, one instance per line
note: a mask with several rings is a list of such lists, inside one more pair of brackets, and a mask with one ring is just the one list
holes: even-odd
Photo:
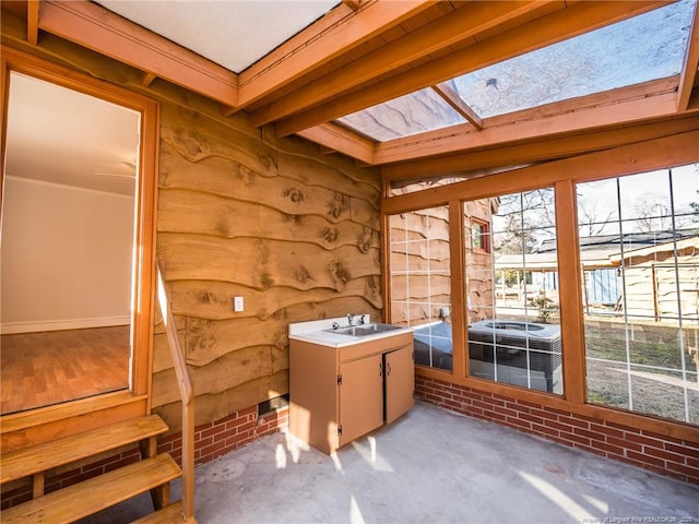
[[(340, 1), (97, 0), (96, 3), (239, 73)], [(205, 3), (206, 8), (198, 9), (198, 3)]]

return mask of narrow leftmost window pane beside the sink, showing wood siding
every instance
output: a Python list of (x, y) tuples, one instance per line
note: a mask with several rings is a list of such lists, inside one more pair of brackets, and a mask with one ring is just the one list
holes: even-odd
[(449, 207), (389, 217), (391, 319), (416, 327), (415, 364), (452, 369)]

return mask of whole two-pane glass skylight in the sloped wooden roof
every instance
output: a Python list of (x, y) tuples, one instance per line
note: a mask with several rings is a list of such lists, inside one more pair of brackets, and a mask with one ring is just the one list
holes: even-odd
[[(481, 118), (679, 73), (694, 0), (618, 22), (458, 76), (449, 84)], [(431, 88), (336, 120), (379, 142), (464, 123)]]

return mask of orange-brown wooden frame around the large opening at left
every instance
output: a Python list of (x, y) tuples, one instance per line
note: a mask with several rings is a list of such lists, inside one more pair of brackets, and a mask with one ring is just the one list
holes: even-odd
[[(87, 76), (11, 47), (0, 46), (0, 52), (2, 57), (0, 71), (0, 88), (2, 90), (0, 97), (0, 114), (2, 116), (0, 181), (2, 182), (4, 181), (5, 168), (9, 79), (13, 71), (95, 96), (141, 115), (140, 177), (134, 202), (137, 210), (134, 241), (138, 249), (134, 250), (133, 259), (133, 264), (135, 264), (133, 289), (135, 293), (133, 293), (131, 312), (133, 349), (130, 388), (128, 391), (2, 416), (0, 417), (0, 427), (2, 428), (0, 434), (1, 445), (4, 449), (13, 441), (13, 431), (26, 433), (24, 440), (29, 439), (38, 442), (50, 439), (56, 431), (70, 434), (82, 430), (85, 422), (75, 424), (76, 420), (87, 418), (93, 420), (92, 424), (95, 421), (97, 421), (96, 424), (109, 424), (122, 418), (125, 414), (135, 416), (147, 414), (151, 410), (153, 326), (156, 314), (154, 289), (159, 105), (151, 98), (123, 87)], [(54, 429), (43, 432), (37, 429), (42, 427)]]

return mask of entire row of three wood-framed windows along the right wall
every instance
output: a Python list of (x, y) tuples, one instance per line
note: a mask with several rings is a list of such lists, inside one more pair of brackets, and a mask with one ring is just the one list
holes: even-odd
[[(407, 306), (431, 311), (411, 315), (431, 358), (422, 364), (433, 368), (426, 376), (443, 370), (445, 380), (488, 393), (509, 385), (508, 396), (532, 402), (548, 394), (573, 413), (640, 429), (657, 430), (643, 420), (649, 415), (699, 426), (699, 164), (692, 136), (661, 140), (687, 165), (650, 171), (667, 162), (665, 150), (631, 145), (591, 153), (594, 170), (588, 159), (553, 160), (518, 177), (424, 183), (419, 194), (384, 199), (389, 321), (399, 320), (403, 297), (419, 295), (395, 287), (401, 271), (427, 266), (417, 261), (428, 246), (451, 253), (441, 266), (452, 270), (449, 298), (436, 293), (440, 266), (430, 254), (433, 287), (423, 295), (430, 298)], [(626, 175), (629, 155), (649, 171)], [(537, 176), (547, 182), (531, 189)], [(413, 211), (417, 202), (426, 209)], [(434, 243), (424, 226), (418, 235), (401, 225), (427, 215), (443, 227)], [(439, 352), (449, 365), (440, 366)]]

